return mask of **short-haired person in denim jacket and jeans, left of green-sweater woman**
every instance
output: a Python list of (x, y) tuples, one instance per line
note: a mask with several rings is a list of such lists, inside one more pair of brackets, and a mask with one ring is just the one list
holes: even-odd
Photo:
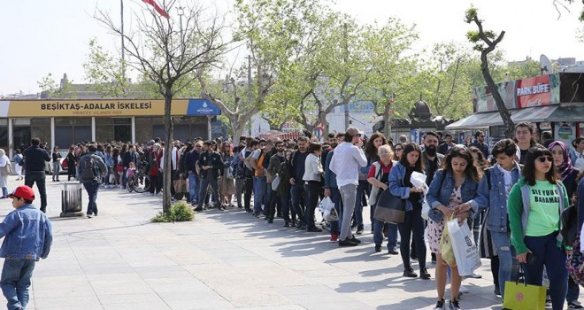
[[(496, 293), (503, 296), (505, 281), (511, 281), (511, 272), (515, 274), (519, 266), (515, 259), (515, 249), (511, 246), (510, 229), (507, 220), (507, 199), (513, 185), (521, 177), (521, 167), (515, 160), (517, 145), (511, 139), (503, 139), (493, 147), (496, 165), (485, 170), (474, 201), (488, 208), (485, 221), (491, 232), (493, 244), (499, 257), (499, 281)], [(514, 277), (515, 275), (513, 275)]]

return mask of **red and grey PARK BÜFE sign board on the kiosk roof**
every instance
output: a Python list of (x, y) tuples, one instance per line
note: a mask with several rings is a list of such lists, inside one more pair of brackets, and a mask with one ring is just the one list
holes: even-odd
[[(559, 75), (540, 75), (517, 81), (504, 81), (496, 85), (508, 109), (559, 103)], [(487, 86), (473, 88), (474, 112), (498, 111), (493, 94)]]

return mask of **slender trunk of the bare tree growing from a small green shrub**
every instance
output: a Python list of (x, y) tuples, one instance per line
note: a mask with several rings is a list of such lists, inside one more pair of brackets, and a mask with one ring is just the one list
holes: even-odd
[[(165, 167), (163, 173), (163, 185), (164, 189), (162, 191), (162, 212), (168, 213), (171, 207), (171, 186), (173, 182), (171, 180), (171, 174), (173, 173), (173, 118), (171, 117), (171, 104), (173, 103), (173, 96), (170, 89), (166, 89), (165, 96)], [(150, 183), (150, 186), (152, 184)]]

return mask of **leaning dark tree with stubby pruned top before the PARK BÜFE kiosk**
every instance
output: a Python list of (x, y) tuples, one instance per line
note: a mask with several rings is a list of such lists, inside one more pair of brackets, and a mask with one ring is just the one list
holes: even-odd
[[(496, 86), (495, 81), (493, 81), (493, 77), (491, 76), (488, 69), (488, 53), (495, 50), (496, 44), (503, 40), (503, 35), (505, 35), (505, 32), (502, 31), (501, 34), (497, 36), (493, 31), (485, 31), (482, 27), (482, 20), (480, 20), (478, 17), (477, 9), (474, 7), (471, 7), (466, 11), (465, 21), (468, 24), (474, 22), (477, 27), (479, 27), (479, 31), (469, 31), (466, 36), (470, 42), (475, 43), (474, 50), (480, 51), (480, 68), (482, 75), (487, 82), (488, 88), (491, 89), (493, 99), (495, 99), (496, 107), (501, 114), (501, 118), (503, 119), (503, 124), (505, 126), (505, 136), (512, 138), (513, 132), (515, 131), (515, 125), (513, 124), (513, 120), (511, 120), (511, 113), (509, 110), (507, 110), (505, 102), (503, 101), (503, 97), (501, 97), (499, 89)], [(485, 46), (483, 43), (487, 46)]]

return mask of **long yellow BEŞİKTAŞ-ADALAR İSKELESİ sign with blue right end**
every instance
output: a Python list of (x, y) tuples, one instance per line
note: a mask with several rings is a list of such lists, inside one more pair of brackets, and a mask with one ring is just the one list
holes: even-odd
[[(219, 108), (205, 100), (209, 115), (219, 115)], [(204, 115), (190, 105), (201, 105), (201, 99), (173, 99), (171, 114)], [(165, 100), (106, 99), (106, 100), (12, 100), (8, 117), (116, 117), (116, 116), (163, 116)]]

